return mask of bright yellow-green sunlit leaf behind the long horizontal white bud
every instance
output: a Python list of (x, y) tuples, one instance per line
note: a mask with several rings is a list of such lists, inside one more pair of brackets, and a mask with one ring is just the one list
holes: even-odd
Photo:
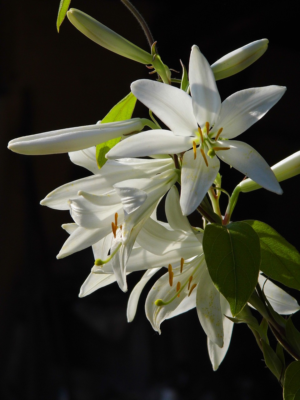
[[(108, 114), (101, 121), (102, 124), (106, 122), (116, 122), (129, 120), (132, 116), (134, 106), (136, 105), (136, 97), (131, 92), (124, 97), (124, 99), (120, 100)], [(104, 166), (107, 159), (105, 158), (105, 154), (113, 148), (118, 142), (120, 142), (120, 138), (108, 140), (107, 142), (98, 144), (96, 146), (96, 160), (98, 164), (98, 168)]]

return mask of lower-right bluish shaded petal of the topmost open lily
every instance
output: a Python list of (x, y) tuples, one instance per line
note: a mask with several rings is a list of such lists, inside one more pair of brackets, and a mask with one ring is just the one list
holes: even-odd
[(217, 152), (221, 160), (233, 166), (263, 188), (277, 194), (282, 194), (282, 189), (274, 172), (253, 147), (237, 140), (219, 140), (218, 146), (230, 147), (229, 150)]

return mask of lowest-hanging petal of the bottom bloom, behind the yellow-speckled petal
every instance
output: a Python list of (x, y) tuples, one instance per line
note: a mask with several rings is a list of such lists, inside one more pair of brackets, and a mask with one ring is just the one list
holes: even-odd
[(230, 312), (230, 306), (225, 300), (225, 298), (220, 295), (220, 304), (221, 304), (221, 309), (223, 315), (223, 329), (224, 329), (224, 346), (220, 348), (218, 345), (216, 345), (210, 338), (207, 338), (207, 347), (208, 347), (208, 354), (210, 357), (210, 361), (212, 362), (212, 368), (214, 371), (216, 371), (221, 362), (223, 361), (229, 344), (230, 344), (230, 339), (231, 339), (231, 334), (232, 334), (232, 328), (233, 328), (233, 322), (230, 321), (228, 318), (226, 318), (226, 315), (232, 316)]

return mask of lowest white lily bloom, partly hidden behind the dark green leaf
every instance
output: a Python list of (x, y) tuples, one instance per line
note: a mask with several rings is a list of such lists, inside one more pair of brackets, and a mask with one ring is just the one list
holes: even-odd
[[(233, 322), (227, 316), (232, 316), (230, 306), (226, 299), (215, 288), (204, 259), (202, 251), (202, 234), (192, 228), (180, 210), (179, 195), (173, 187), (166, 197), (166, 213), (169, 224), (162, 224), (168, 234), (165, 235), (164, 244), (161, 244), (161, 236), (156, 238), (157, 223), (148, 220), (147, 230), (141, 230), (137, 236), (137, 242), (148, 250), (145, 253), (144, 262), (150, 252), (155, 251), (157, 259), (169, 248), (170, 262), (168, 272), (153, 285), (146, 299), (146, 316), (154, 330), (160, 333), (160, 324), (167, 318), (174, 317), (196, 307), (202, 328), (208, 336), (208, 352), (214, 369), (217, 369), (223, 360), (231, 338)], [(151, 224), (153, 224), (151, 226)], [(146, 226), (146, 225), (145, 225)], [(172, 256), (172, 246), (176, 235), (185, 235), (184, 242), (177, 242), (176, 255)], [(172, 238), (171, 238), (172, 235)], [(169, 237), (167, 237), (169, 236)], [(169, 245), (167, 244), (169, 240)], [(195, 248), (186, 246), (192, 240), (197, 241)], [(180, 248), (182, 253), (180, 255)], [(196, 250), (196, 255), (195, 251)], [(156, 260), (155, 267), (159, 266)], [(161, 266), (166, 262), (162, 260)], [(130, 263), (130, 258), (128, 263)], [(128, 320), (134, 318), (136, 305), (142, 289), (156, 270), (147, 270), (140, 282), (136, 285), (128, 301)], [(262, 286), (264, 278), (259, 276), (258, 282)], [(264, 285), (264, 293), (272, 304), (274, 310), (281, 314), (291, 314), (299, 310), (298, 303), (275, 284), (267, 281)]]

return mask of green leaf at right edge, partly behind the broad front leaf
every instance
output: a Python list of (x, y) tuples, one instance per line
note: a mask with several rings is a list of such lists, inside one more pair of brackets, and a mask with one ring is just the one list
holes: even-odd
[(300, 290), (300, 254), (276, 230), (264, 222), (247, 220), (260, 238), (264, 274), (285, 286)]

